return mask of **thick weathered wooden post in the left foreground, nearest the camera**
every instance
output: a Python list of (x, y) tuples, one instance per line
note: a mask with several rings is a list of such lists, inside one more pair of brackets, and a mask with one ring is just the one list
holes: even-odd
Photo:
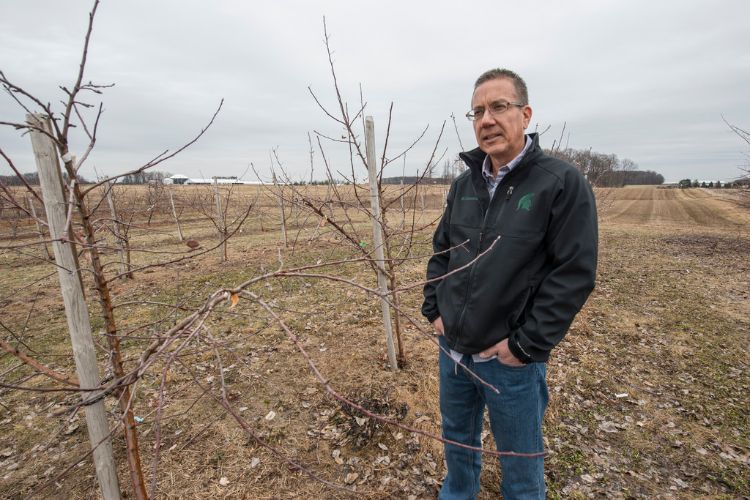
[[(26, 120), (36, 127), (45, 127), (45, 118), (41, 115), (29, 114)], [(49, 127), (46, 127), (46, 129), (49, 130)], [(78, 279), (73, 248), (67, 238), (68, 235), (64, 233), (67, 200), (62, 191), (57, 150), (55, 144), (45, 134), (31, 130), (30, 135), (36, 165), (39, 170), (39, 182), (42, 186), (47, 223), (53, 240), (52, 248), (57, 262), (57, 274), (65, 304), (65, 316), (68, 320), (78, 380), (83, 388), (98, 387), (101, 385), (101, 378), (96, 361), (94, 340), (91, 336), (88, 307), (83, 296), (81, 281)], [(85, 398), (91, 395), (90, 392), (82, 393)], [(108, 500), (119, 499), (120, 487), (117, 481), (117, 465), (112, 453), (112, 441), (109, 435), (104, 401), (98, 401), (84, 408), (89, 440), (94, 450), (96, 475), (102, 489), (102, 496)]]

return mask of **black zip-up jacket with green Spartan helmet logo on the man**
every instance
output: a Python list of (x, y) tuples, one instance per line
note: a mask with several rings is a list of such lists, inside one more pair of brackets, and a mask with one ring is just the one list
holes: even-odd
[(422, 314), (442, 317), (448, 344), (464, 354), (509, 338), (521, 361), (547, 361), (594, 288), (591, 187), (531, 137), (492, 200), (481, 173), (485, 153), (461, 153), (469, 169), (453, 181), (433, 237)]

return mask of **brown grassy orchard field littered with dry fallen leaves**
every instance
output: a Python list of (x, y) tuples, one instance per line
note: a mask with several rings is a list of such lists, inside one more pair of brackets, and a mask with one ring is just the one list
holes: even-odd
[[(309, 189), (321, 199), (329, 194), (325, 187)], [(339, 189), (343, 205), (326, 209), (331, 221), (343, 220), (342, 206), (356, 201), (351, 187)], [(174, 187), (173, 193), (185, 236), (201, 245), (197, 252), (178, 240), (164, 193), (117, 188), (120, 216), (134, 223), (136, 267), (190, 257), (113, 281), (126, 365), (217, 290), (280, 267), (361, 255), (330, 221), (291, 204), (283, 248), (277, 200), (266, 189), (243, 187), (225, 191), (230, 220), (252, 209), (222, 262), (220, 249), (210, 250), (218, 241), (206, 217), (213, 210), (210, 189)], [(750, 496), (750, 213), (734, 196), (653, 187), (597, 192), (597, 288), (549, 363), (550, 498)], [(413, 259), (400, 268), (402, 285), (423, 277), (429, 226), (443, 197), (443, 187), (431, 187), (424, 201), (420, 193), (411, 196), (403, 214), (394, 203), (392, 225), (424, 226)], [(112, 247), (106, 203), (97, 216), (100, 242)], [(372, 233), (364, 222), (364, 215), (354, 215), (350, 227), (367, 249)], [(31, 221), (0, 213), (0, 246), (16, 247), (0, 253), (0, 339), (73, 373), (57, 277), (43, 250), (31, 245), (34, 231)], [(114, 275), (116, 254), (107, 250), (107, 259)], [(360, 262), (315, 272), (375, 286)], [(86, 273), (84, 281), (91, 283)], [(402, 321), (406, 363), (397, 373), (386, 367), (380, 307), (361, 289), (307, 276), (261, 280), (250, 290), (298, 336), (336, 391), (404, 425), (440, 433), (436, 348), (417, 328), (429, 331), (418, 312), (420, 287), (401, 296), (404, 314), (417, 324)], [(93, 297), (87, 296), (106, 375)], [(88, 458), (63, 474), (88, 449), (82, 411), (74, 411), (78, 394), (8, 388), (57, 387), (8, 354), (0, 355), (0, 374), (0, 497), (96, 498)], [(222, 377), (228, 401), (252, 435), (217, 403)], [(439, 442), (365, 419), (327, 395), (298, 345), (250, 300), (221, 305), (200, 335), (178, 339), (135, 384), (135, 394), (143, 469), (149, 484), (156, 478), (159, 498), (434, 498), (443, 474)], [(108, 408), (114, 423), (119, 410), (114, 401)], [(127, 492), (119, 431), (114, 446)], [(491, 437), (485, 446), (492, 447)], [(480, 498), (497, 498), (496, 461), (486, 457), (485, 463)]]

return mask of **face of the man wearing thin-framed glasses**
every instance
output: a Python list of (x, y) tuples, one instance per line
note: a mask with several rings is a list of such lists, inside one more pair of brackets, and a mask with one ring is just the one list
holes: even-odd
[(471, 99), (471, 109), (485, 110), (482, 118), (474, 122), (474, 134), (479, 148), (492, 159), (493, 170), (507, 164), (523, 150), (524, 130), (531, 120), (529, 106), (511, 106), (504, 113), (493, 115), (489, 109), (498, 101), (518, 102), (511, 80), (488, 80), (474, 90)]

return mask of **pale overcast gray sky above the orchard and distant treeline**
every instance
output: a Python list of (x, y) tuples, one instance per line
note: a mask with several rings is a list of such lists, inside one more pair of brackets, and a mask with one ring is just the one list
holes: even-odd
[[(0, 69), (45, 101), (76, 76), (92, 2), (4, 0)], [(475, 147), (464, 118), (474, 79), (492, 67), (526, 80), (532, 126), (563, 123), (569, 146), (630, 158), (668, 181), (737, 177), (746, 146), (722, 121), (750, 127), (750, 1), (103, 1), (86, 80), (114, 83), (94, 153), (93, 177), (140, 166), (196, 134), (221, 98), (224, 108), (201, 141), (159, 169), (188, 176), (241, 175), (252, 162), (269, 172), (276, 149), (291, 177), (309, 177), (307, 133), (341, 136), (308, 92), (334, 109), (323, 44), (326, 17), (340, 86), (351, 108), (359, 84), (382, 148), (394, 104), (387, 156), (429, 125), (407, 155), (423, 167), (447, 120), (439, 151)], [(90, 102), (98, 102), (95, 99)], [(0, 120), (23, 110), (0, 95)], [(78, 135), (74, 152), (82, 152)], [(28, 137), (0, 128), (0, 147), (33, 171)], [(334, 170), (349, 171), (340, 145), (324, 142)], [(322, 159), (314, 157), (316, 178)], [(398, 161), (387, 172), (400, 175)], [(0, 173), (9, 173), (0, 164)], [(358, 175), (364, 171), (359, 170)], [(246, 175), (253, 178), (252, 173)]]

